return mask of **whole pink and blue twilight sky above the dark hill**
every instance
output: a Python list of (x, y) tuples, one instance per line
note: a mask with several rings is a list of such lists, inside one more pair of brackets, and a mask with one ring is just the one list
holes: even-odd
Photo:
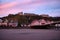
[(60, 0), (0, 0), (0, 17), (18, 12), (60, 16)]

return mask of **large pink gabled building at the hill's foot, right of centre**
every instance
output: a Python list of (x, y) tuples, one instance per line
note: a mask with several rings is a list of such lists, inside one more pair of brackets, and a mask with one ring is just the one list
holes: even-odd
[(33, 20), (31, 22), (31, 26), (35, 26), (35, 25), (46, 25), (46, 24), (50, 24), (52, 23), (52, 21), (50, 20), (45, 20), (45, 19), (40, 19), (40, 20)]

